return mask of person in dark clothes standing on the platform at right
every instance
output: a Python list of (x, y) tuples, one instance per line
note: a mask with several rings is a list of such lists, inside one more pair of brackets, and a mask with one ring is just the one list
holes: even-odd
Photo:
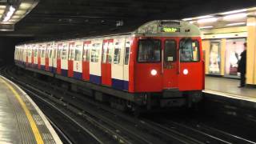
[(247, 44), (243, 44), (245, 47), (245, 50), (240, 54), (241, 59), (238, 62), (238, 72), (240, 72), (240, 86), (239, 87), (244, 87), (246, 86), (246, 46)]

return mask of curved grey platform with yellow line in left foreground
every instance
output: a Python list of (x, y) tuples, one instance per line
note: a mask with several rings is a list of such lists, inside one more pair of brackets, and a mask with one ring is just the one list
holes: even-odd
[(32, 99), (0, 76), (0, 143), (62, 143)]

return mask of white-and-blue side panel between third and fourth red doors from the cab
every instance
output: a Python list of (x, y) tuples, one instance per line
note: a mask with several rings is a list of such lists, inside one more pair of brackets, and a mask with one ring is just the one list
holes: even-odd
[(67, 77), (68, 74), (68, 49), (69, 49), (69, 42), (63, 42), (62, 43), (62, 58), (61, 58), (61, 69), (62, 69), (62, 75)]

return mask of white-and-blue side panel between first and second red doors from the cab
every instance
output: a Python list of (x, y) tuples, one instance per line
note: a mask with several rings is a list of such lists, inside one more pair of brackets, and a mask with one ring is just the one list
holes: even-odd
[(101, 84), (102, 83), (102, 40), (92, 42), (90, 50), (90, 82)]

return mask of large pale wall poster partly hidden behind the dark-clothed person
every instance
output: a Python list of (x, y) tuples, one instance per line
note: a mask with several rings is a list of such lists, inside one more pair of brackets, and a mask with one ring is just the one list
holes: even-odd
[(240, 54), (244, 50), (243, 44), (246, 38), (227, 39), (226, 41), (226, 55), (225, 55), (225, 76), (229, 78), (238, 77), (238, 62)]

